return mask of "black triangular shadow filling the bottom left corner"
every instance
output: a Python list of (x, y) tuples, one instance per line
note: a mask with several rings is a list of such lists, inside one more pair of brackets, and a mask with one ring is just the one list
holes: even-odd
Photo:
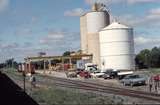
[(38, 105), (38, 103), (0, 72), (0, 105)]

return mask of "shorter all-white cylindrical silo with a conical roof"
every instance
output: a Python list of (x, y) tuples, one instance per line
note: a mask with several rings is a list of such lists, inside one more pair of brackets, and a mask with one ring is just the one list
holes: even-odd
[(101, 68), (134, 70), (133, 29), (114, 22), (100, 31)]

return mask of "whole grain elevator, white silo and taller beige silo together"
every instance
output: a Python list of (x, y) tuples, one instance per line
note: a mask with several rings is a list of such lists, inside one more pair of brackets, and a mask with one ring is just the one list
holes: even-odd
[(95, 3), (80, 17), (81, 51), (92, 54), (100, 69), (134, 70), (133, 28), (119, 22), (110, 24), (105, 6)]

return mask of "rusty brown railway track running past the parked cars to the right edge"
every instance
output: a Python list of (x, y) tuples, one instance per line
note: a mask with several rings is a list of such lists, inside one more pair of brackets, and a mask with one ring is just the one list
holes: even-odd
[[(84, 82), (80, 80), (70, 80), (70, 79), (49, 77), (49, 76), (44, 76), (44, 77), (45, 79), (48, 79), (50, 83), (53, 83), (53, 85), (56, 85), (56, 86), (89, 90), (89, 91), (94, 91), (99, 93), (123, 95), (123, 96), (146, 99), (150, 101), (156, 101), (160, 103), (160, 94), (130, 90), (125, 88), (111, 87), (111, 86), (106, 86), (106, 85), (97, 84), (97, 83)], [(45, 84), (47, 85), (50, 85), (50, 83), (45, 82)]]

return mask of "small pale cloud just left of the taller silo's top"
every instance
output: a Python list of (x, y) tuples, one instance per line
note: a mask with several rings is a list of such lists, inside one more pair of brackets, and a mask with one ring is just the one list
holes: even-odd
[(64, 16), (81, 16), (85, 13), (82, 8), (75, 8), (73, 10), (68, 10), (64, 12)]

